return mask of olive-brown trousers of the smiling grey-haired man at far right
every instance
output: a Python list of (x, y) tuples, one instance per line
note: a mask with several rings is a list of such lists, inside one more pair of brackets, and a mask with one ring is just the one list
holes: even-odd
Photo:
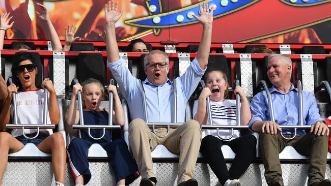
[[(284, 136), (290, 137), (290, 135)], [(293, 146), (298, 153), (310, 157), (308, 185), (324, 180), (327, 141), (327, 135), (317, 136), (310, 132), (301, 137), (296, 136), (293, 140), (286, 140), (279, 134), (260, 133), (260, 152), (267, 183), (270, 184), (272, 180), (278, 179), (284, 185), (279, 153), (288, 145)]]

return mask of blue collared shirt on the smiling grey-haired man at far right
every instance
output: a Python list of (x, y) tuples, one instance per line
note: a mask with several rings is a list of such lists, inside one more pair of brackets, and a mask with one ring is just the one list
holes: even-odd
[[(287, 94), (278, 91), (274, 86), (269, 90), (275, 122), (278, 125), (299, 125), (298, 91), (293, 84), (291, 83), (291, 88)], [(315, 97), (308, 91), (302, 91), (302, 98), (304, 100), (304, 125), (313, 125), (317, 121), (322, 121), (323, 118), (319, 115)], [(249, 123), (251, 130), (255, 121), (271, 120), (266, 91), (259, 92), (254, 96), (251, 102), (251, 111), (253, 115)], [(291, 131), (289, 130), (287, 133), (291, 133)], [(297, 131), (299, 136), (305, 133), (303, 130)], [(286, 134), (285, 130), (283, 130), (283, 134)]]

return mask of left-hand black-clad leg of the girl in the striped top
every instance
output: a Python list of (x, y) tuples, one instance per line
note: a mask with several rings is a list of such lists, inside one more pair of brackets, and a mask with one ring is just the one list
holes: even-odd
[(225, 163), (222, 150), (220, 149), (221, 146), (222, 141), (220, 139), (208, 135), (201, 140), (200, 151), (207, 158), (209, 166), (215, 173), (218, 181), (224, 185), (228, 179), (232, 178)]

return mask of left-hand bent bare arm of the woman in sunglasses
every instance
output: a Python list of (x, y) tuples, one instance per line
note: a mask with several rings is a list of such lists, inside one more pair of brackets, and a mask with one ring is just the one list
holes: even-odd
[(0, 130), (6, 131), (6, 124), (10, 122), (10, 105), (12, 103), (12, 92), (17, 94), (18, 87), (15, 84), (11, 84), (7, 87), (7, 98), (4, 100), (3, 109), (0, 114)]

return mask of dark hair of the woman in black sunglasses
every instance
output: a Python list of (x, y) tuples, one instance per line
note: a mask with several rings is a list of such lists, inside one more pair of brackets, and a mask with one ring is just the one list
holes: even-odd
[[(36, 69), (37, 70), (42, 70), (42, 69), (38, 69), (38, 65), (36, 64), (36, 60), (34, 58), (34, 56), (32, 55), (32, 53), (30, 52), (16, 52), (14, 57), (13, 57), (13, 66), (12, 66), (12, 78), (13, 78), (13, 83), (16, 85), (16, 86), (19, 86), (18, 90), (21, 91), (22, 90), (22, 84), (21, 82), (19, 81), (18, 77), (16, 76), (16, 68), (17, 66), (19, 65), (19, 63), (21, 63), (21, 61), (23, 60), (27, 60), (29, 59), (32, 64), (34, 64), (36, 66)], [(39, 72), (38, 72), (39, 74)], [(42, 73), (40, 73), (42, 74)], [(36, 76), (36, 78), (38, 78), (39, 76)], [(36, 80), (35, 80), (35, 83), (36, 83)], [(37, 85), (36, 84), (36, 87), (40, 88), (41, 87), (41, 84)]]

